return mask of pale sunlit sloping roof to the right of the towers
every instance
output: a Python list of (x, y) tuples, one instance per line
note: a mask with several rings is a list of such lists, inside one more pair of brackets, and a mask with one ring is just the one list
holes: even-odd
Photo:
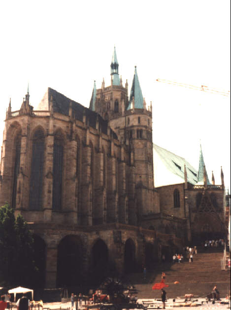
[(185, 160), (156, 144), (153, 144), (154, 182), (155, 186), (184, 183), (184, 165), (186, 165), (188, 182), (197, 183), (197, 170)]

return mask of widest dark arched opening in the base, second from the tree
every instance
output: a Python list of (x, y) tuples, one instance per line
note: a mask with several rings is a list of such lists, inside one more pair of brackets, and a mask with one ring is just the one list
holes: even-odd
[(76, 286), (83, 281), (83, 248), (78, 236), (67, 235), (58, 246), (57, 286)]

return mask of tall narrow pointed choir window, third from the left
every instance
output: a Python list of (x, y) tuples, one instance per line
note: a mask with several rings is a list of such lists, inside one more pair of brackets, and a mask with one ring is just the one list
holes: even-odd
[(53, 152), (53, 199), (52, 207), (54, 210), (61, 210), (62, 207), (62, 179), (63, 179), (63, 156), (64, 146), (60, 134), (54, 137)]

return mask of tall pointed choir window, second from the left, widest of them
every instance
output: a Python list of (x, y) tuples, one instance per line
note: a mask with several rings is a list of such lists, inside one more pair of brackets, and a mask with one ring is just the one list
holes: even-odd
[(42, 186), (43, 186), (43, 156), (44, 135), (42, 130), (37, 130), (33, 135), (32, 163), (30, 179), (30, 209), (42, 208)]

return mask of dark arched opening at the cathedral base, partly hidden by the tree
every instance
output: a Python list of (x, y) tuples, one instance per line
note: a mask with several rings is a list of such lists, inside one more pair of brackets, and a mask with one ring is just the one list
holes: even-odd
[(46, 277), (46, 243), (37, 234), (33, 234), (33, 251), (34, 251), (34, 264), (37, 269), (33, 277), (33, 287), (43, 289), (45, 287)]

